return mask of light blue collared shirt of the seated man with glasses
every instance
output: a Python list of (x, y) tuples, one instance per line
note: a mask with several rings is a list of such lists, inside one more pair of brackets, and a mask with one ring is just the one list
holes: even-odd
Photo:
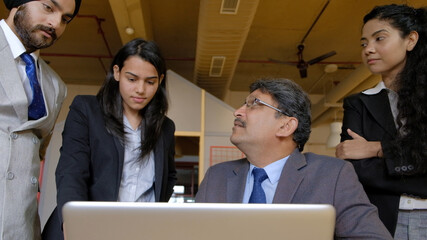
[[(262, 189), (265, 192), (265, 198), (267, 203), (272, 203), (274, 194), (276, 193), (277, 184), (280, 180), (280, 174), (282, 174), (283, 167), (286, 164), (289, 156), (284, 157), (280, 160), (277, 160), (273, 163), (264, 167), (265, 172), (267, 173), (268, 178), (261, 183)], [(249, 198), (252, 193), (252, 188), (254, 185), (254, 176), (252, 174), (252, 170), (254, 169), (254, 165), (250, 164), (248, 176), (246, 177), (246, 186), (245, 193), (243, 194), (243, 203), (248, 203)]]

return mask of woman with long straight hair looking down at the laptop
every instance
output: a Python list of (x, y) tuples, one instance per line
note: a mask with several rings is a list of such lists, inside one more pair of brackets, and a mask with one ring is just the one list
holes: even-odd
[(159, 48), (132, 40), (114, 57), (98, 94), (76, 96), (70, 106), (56, 169), (57, 208), (43, 239), (63, 239), (60, 210), (68, 201), (169, 200), (176, 170), (167, 109)]

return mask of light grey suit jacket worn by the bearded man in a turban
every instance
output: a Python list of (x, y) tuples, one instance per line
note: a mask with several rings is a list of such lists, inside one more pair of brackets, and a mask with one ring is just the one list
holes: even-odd
[(66, 96), (65, 84), (39, 59), (47, 116), (28, 121), (28, 100), (0, 28), (0, 240), (40, 239), (37, 214), (40, 156)]

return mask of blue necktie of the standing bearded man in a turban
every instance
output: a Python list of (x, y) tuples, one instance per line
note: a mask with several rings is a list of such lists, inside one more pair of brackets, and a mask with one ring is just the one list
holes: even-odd
[(30, 80), (31, 89), (33, 90), (33, 101), (31, 101), (31, 104), (28, 106), (28, 119), (37, 120), (46, 115), (46, 108), (44, 106), (42, 89), (37, 80), (36, 64), (34, 58), (28, 53), (21, 54), (21, 58), (26, 64), (25, 72)]

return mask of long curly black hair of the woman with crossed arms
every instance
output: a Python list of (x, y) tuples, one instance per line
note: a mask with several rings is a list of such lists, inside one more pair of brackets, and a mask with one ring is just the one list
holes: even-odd
[(415, 169), (409, 174), (427, 172), (427, 12), (425, 8), (390, 4), (377, 6), (364, 18), (387, 21), (400, 31), (402, 38), (415, 31), (419, 35), (412, 51), (406, 53), (406, 63), (398, 74), (396, 86), (399, 101), (398, 136), (391, 155), (396, 161), (410, 161)]

